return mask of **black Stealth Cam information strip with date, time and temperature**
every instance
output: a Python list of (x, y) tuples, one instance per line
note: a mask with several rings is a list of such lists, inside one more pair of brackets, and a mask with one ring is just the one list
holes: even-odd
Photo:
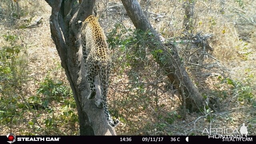
[[(0, 136), (0, 144), (194, 144), (253, 143), (256, 136)], [(255, 143), (255, 142), (254, 142)]]

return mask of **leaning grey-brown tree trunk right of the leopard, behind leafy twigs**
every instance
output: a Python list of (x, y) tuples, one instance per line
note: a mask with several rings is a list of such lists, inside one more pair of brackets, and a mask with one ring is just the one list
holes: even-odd
[[(198, 107), (202, 106), (202, 96), (200, 95), (198, 89), (194, 86), (191, 79), (189, 78), (181, 58), (178, 56), (178, 52), (174, 45), (166, 47), (162, 44), (157, 32), (148, 22), (146, 16), (142, 12), (140, 5), (137, 0), (121, 0), (124, 8), (132, 23), (136, 29), (143, 31), (150, 30), (155, 37), (155, 44), (148, 47), (150, 50), (161, 49), (163, 52), (158, 54), (156, 61), (166, 72), (168, 78), (174, 83), (174, 87), (179, 91), (182, 96), (184, 115), (185, 115), (185, 106), (190, 111), (198, 110)], [(172, 52), (170, 52), (170, 48)], [(165, 55), (168, 59), (164, 62), (160, 58)]]

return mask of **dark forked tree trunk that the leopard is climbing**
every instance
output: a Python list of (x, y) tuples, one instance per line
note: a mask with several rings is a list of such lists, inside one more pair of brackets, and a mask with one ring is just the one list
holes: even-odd
[[(80, 135), (116, 135), (103, 110), (96, 107), (94, 100), (87, 100), (90, 89), (82, 60), (81, 27), (77, 22), (84, 21), (92, 14), (95, 0), (83, 0), (80, 5), (74, 0), (45, 1), (52, 7), (51, 36), (76, 100)], [(100, 90), (97, 87), (96, 98), (98, 96)]]

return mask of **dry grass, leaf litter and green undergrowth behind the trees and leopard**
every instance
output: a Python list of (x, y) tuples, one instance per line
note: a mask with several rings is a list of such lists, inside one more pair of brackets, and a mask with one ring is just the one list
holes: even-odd
[[(134, 30), (118, 0), (97, 1), (113, 53), (108, 102), (122, 122), (118, 134), (200, 135), (245, 122), (255, 135), (256, 2), (196, 0), (187, 31), (183, 0), (140, 4), (164, 42), (178, 46), (204, 107), (183, 120), (177, 92), (153, 60), (161, 50), (146, 49), (152, 34)], [(0, 134), (78, 135), (72, 91), (50, 38), (50, 7), (43, 0), (0, 6)], [(192, 42), (207, 34), (208, 45)]]

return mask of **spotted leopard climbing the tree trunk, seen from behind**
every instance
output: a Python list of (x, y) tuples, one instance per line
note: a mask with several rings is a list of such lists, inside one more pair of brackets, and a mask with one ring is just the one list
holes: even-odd
[(90, 15), (84, 22), (78, 21), (78, 23), (82, 27), (82, 55), (86, 67), (85, 75), (90, 86), (90, 94), (87, 98), (92, 100), (96, 97), (95, 80), (96, 76), (98, 76), (100, 79), (101, 99), (100, 102), (96, 101), (95, 104), (97, 107), (103, 108), (108, 124), (112, 127), (116, 127), (120, 124), (120, 120), (113, 120), (111, 118), (107, 104), (111, 55), (106, 35), (96, 16)]

